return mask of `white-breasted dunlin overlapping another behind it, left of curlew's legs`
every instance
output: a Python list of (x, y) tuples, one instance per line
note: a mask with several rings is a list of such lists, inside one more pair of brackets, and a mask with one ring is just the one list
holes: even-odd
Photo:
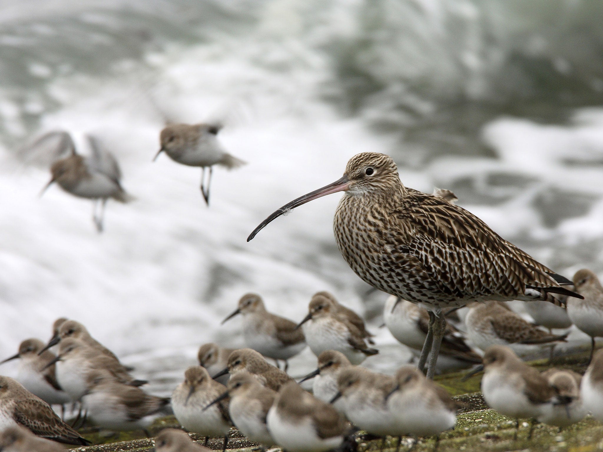
[(297, 327), (303, 327), (306, 342), (316, 356), (326, 350), (336, 350), (346, 355), (352, 364), (360, 364), (367, 356), (379, 353), (368, 347), (358, 328), (336, 314), (336, 307), (329, 298), (313, 297), (308, 311)]

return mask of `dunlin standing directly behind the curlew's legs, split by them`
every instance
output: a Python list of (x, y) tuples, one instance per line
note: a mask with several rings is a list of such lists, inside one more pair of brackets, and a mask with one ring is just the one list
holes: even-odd
[[(429, 330), (428, 311), (392, 295), (385, 302), (383, 318), (385, 326), (397, 341), (409, 347), (418, 356)], [(466, 344), (463, 334), (447, 324), (442, 338), (438, 369), (466, 368), (481, 362), (481, 357)]]

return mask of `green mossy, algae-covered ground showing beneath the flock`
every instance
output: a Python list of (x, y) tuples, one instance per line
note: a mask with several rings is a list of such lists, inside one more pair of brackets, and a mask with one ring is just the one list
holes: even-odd
[[(588, 359), (586, 353), (573, 354), (557, 358), (552, 364), (548, 360), (531, 362), (538, 370), (551, 367), (572, 369), (584, 373), (585, 363)], [(561, 430), (544, 424), (534, 424), (532, 436), (528, 438), (530, 424), (528, 419), (522, 419), (519, 430), (516, 430), (515, 419), (506, 418), (488, 409), (479, 392), (481, 374), (463, 381), (467, 371), (440, 375), (436, 378), (440, 385), (455, 396), (455, 400), (462, 406), (459, 409), (456, 426), (440, 435), (437, 445), (438, 451), (550, 451), (550, 452), (590, 452), (603, 450), (603, 424), (589, 417), (581, 422)], [(157, 419), (150, 427), (151, 435), (166, 427), (180, 428), (174, 416)], [(517, 439), (515, 435), (517, 432)], [(153, 439), (145, 438), (142, 432), (125, 432), (119, 435), (108, 436), (94, 428), (83, 428), (80, 433), (93, 442), (93, 446), (74, 448), (73, 451), (81, 452), (142, 452), (153, 450)], [(231, 431), (229, 450), (251, 451), (257, 445), (242, 438), (235, 429)], [(200, 435), (191, 435), (203, 444), (204, 438)], [(385, 443), (381, 440), (364, 441), (362, 432), (358, 434), (356, 446), (359, 452), (365, 450), (383, 450), (391, 452), (397, 450), (407, 451), (432, 451), (436, 445), (436, 438), (402, 438), (400, 445), (397, 438), (387, 438)], [(207, 446), (213, 450), (222, 450), (223, 439), (212, 438)]]

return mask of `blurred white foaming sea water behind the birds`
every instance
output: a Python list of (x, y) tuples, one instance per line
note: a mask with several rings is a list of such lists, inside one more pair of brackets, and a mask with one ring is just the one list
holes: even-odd
[[(387, 297), (336, 249), (338, 196), (245, 242), (363, 151), (561, 274), (601, 275), (602, 22), (591, 0), (0, 1), (1, 356), (68, 316), (168, 392), (199, 344), (242, 344), (219, 321), (250, 291), (300, 320), (330, 290), (378, 331)], [(198, 169), (151, 162), (166, 119), (223, 121), (248, 162), (215, 171), (209, 209)], [(21, 158), (55, 129), (98, 137), (137, 198), (109, 202), (102, 235)], [(409, 354), (379, 331), (367, 365), (393, 369)]]

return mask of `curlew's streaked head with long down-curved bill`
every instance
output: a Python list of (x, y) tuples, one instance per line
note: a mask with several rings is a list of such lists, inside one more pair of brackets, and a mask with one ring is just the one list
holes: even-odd
[(402, 186), (398, 175), (398, 168), (394, 160), (379, 152), (362, 152), (356, 154), (347, 162), (346, 172), (343, 177), (332, 184), (326, 185), (314, 192), (307, 193), (285, 204), (279, 210), (262, 221), (257, 228), (247, 237), (249, 242), (268, 223), (289, 212), (295, 207), (306, 204), (322, 196), (336, 192), (346, 192), (350, 196), (364, 196), (373, 193), (395, 193)]

